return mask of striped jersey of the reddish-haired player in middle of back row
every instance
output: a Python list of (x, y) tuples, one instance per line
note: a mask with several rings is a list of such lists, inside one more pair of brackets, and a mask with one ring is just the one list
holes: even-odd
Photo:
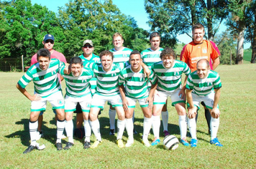
[(131, 54), (132, 49), (129, 49), (127, 47), (124, 47), (124, 49), (122, 49), (122, 51), (116, 51), (116, 49), (110, 49), (110, 52), (113, 52), (114, 54), (114, 59), (113, 59), (113, 63), (124, 63), (129, 61), (129, 54)]

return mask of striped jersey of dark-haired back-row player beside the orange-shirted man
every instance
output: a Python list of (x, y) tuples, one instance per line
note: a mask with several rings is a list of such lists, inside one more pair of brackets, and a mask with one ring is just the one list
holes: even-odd
[(152, 64), (156, 63), (156, 62), (160, 62), (160, 54), (162, 53), (163, 48), (160, 47), (160, 49), (156, 50), (156, 51), (152, 51), (151, 48), (145, 49), (144, 51), (142, 51), (142, 60), (143, 62), (148, 66), (151, 67)]

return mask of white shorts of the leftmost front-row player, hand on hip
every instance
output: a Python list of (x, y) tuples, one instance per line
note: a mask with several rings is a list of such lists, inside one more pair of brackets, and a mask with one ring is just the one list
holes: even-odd
[(61, 91), (52, 93), (38, 101), (31, 102), (31, 112), (45, 111), (47, 101), (52, 105), (52, 110), (64, 109), (63, 93)]

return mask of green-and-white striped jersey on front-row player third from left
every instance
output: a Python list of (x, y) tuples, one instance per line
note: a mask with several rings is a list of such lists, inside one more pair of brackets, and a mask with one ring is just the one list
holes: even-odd
[(105, 72), (101, 63), (89, 63), (86, 67), (90, 67), (96, 76), (96, 92), (99, 95), (114, 96), (119, 94), (118, 77), (124, 64), (112, 64), (111, 70)]

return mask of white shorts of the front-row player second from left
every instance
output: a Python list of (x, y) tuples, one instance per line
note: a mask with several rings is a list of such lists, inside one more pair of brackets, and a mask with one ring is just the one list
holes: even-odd
[(73, 112), (76, 110), (76, 105), (81, 105), (83, 112), (90, 112), (91, 108), (91, 95), (86, 95), (83, 97), (70, 97), (65, 95), (65, 112)]

